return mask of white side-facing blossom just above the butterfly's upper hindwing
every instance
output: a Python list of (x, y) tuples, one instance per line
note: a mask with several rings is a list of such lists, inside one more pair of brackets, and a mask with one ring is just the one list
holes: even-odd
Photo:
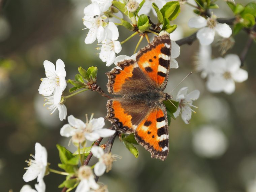
[(119, 41), (119, 32), (117, 26), (113, 22), (109, 22), (105, 29), (106, 37), (100, 43), (100, 59), (106, 62), (106, 66), (110, 66), (116, 59), (116, 53), (120, 53), (122, 46)]

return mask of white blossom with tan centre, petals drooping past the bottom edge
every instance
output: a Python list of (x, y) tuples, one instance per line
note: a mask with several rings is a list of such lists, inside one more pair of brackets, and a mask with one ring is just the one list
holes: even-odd
[(78, 178), (80, 179), (80, 183), (75, 192), (88, 192), (90, 189), (99, 189), (99, 185), (94, 180), (91, 167), (85, 165), (81, 166), (78, 169)]

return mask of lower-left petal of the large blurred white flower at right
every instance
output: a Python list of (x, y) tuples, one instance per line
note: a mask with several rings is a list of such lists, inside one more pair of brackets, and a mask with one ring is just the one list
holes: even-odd
[(209, 75), (206, 82), (206, 88), (213, 93), (218, 93), (223, 91), (223, 82), (225, 79), (222, 75)]

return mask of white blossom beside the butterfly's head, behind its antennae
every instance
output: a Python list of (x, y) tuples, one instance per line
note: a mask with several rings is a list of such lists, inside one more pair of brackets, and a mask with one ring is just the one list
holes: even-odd
[(199, 98), (200, 92), (198, 90), (194, 90), (187, 94), (188, 87), (183, 87), (180, 89), (180, 91), (177, 94), (176, 101), (179, 101), (178, 110), (173, 114), (174, 117), (179, 116), (179, 111), (182, 113), (182, 119), (183, 121), (188, 124), (188, 121), (191, 119), (192, 111), (195, 113), (191, 107), (196, 106), (192, 105), (193, 101), (197, 100)]

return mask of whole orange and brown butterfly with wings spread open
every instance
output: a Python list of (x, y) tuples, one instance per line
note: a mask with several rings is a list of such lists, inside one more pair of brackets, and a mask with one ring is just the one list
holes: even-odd
[(106, 72), (107, 90), (122, 97), (107, 101), (106, 120), (122, 133), (134, 133), (137, 142), (164, 161), (169, 152), (167, 111), (163, 101), (172, 96), (164, 93), (167, 85), (171, 40), (168, 33), (156, 36), (140, 49), (136, 60), (119, 62)]

